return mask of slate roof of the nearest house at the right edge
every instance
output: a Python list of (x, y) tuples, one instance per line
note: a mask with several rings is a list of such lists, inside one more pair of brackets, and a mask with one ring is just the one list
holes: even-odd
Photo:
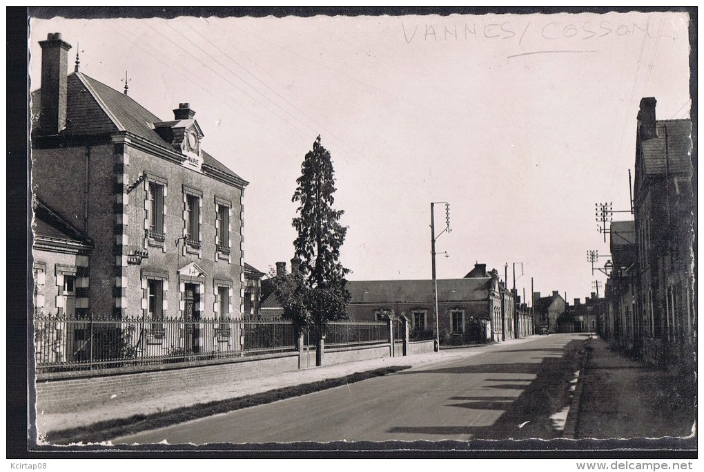
[(691, 121), (658, 120), (656, 127), (658, 137), (641, 142), (646, 174), (691, 173)]

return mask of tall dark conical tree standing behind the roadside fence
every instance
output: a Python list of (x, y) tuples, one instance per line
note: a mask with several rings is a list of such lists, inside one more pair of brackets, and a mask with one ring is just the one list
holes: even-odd
[(322, 352), (325, 323), (347, 317), (350, 294), (345, 275), (350, 271), (339, 261), (347, 227), (339, 223), (344, 211), (334, 210), (335, 180), (332, 158), (320, 144), (313, 143), (301, 164), (301, 177), (291, 201), (298, 202), (298, 216), (293, 225), (298, 232), (294, 241), (300, 265), (287, 280), (276, 285), (275, 292), (297, 333), (313, 325), (318, 333), (318, 363)]

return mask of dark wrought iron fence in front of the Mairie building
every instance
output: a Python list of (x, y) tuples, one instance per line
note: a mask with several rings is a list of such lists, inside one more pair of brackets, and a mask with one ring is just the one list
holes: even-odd
[(290, 321), (34, 317), (37, 373), (170, 364), (296, 350)]

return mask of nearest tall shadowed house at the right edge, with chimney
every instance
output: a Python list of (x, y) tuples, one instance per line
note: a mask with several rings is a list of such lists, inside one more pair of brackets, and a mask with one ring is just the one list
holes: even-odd
[(634, 229), (637, 248), (634, 332), (655, 364), (693, 364), (693, 151), (690, 120), (656, 120), (641, 99), (636, 134)]

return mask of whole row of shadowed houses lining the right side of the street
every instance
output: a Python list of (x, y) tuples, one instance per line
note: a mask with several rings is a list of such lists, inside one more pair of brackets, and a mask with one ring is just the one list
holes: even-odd
[(630, 221), (610, 228), (612, 271), (603, 333), (652, 364), (693, 371), (696, 315), (690, 120), (657, 120), (654, 97), (641, 100)]

